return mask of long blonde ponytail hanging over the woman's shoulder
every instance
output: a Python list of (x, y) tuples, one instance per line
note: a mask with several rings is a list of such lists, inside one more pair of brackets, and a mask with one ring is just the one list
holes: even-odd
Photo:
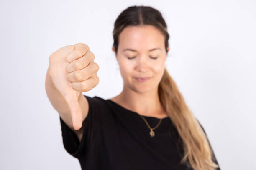
[(195, 170), (215, 170), (218, 165), (209, 140), (192, 111), (187, 107), (184, 97), (168, 71), (159, 83), (158, 94), (161, 104), (171, 118), (182, 139), (184, 157), (181, 163), (186, 163)]

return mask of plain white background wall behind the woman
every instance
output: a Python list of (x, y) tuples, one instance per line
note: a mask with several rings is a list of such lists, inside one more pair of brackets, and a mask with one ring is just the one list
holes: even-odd
[(205, 128), (222, 170), (256, 170), (255, 0), (0, 1), (0, 169), (80, 169), (65, 150), (45, 91), (49, 55), (85, 43), (100, 66), (88, 96), (118, 95), (112, 30), (131, 5), (158, 9), (170, 34), (166, 67)]

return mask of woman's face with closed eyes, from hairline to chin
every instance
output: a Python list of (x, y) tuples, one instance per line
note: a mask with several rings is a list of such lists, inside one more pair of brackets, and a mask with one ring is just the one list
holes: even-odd
[(119, 35), (116, 59), (125, 86), (136, 92), (155, 90), (164, 74), (164, 35), (152, 25), (128, 26)]

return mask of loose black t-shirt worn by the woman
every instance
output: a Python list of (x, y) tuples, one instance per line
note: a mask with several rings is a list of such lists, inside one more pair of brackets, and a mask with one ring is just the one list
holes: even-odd
[[(181, 138), (169, 117), (151, 137), (138, 113), (110, 99), (89, 97), (81, 143), (60, 117), (65, 150), (78, 158), (82, 170), (191, 170), (181, 164)], [(159, 120), (144, 116), (151, 128)], [(202, 125), (201, 125), (202, 126)], [(217, 160), (215, 161), (217, 163)]]

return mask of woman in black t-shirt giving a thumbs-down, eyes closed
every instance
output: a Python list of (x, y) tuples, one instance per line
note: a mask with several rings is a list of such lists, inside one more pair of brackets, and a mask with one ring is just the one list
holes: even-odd
[(82, 95), (99, 66), (88, 45), (49, 57), (46, 92), (60, 115), (64, 148), (84, 170), (220, 170), (207, 135), (164, 67), (169, 34), (161, 13), (131, 6), (117, 18), (113, 52), (123, 91)]

